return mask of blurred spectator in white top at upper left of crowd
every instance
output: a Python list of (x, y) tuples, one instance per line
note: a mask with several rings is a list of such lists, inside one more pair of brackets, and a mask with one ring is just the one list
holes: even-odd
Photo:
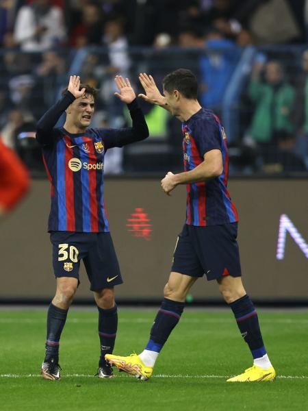
[(23, 5), (16, 16), (14, 38), (23, 51), (44, 51), (66, 39), (62, 9), (50, 0)]

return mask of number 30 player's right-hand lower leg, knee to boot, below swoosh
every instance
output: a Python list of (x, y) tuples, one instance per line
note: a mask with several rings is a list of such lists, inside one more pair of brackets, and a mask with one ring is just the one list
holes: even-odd
[(114, 301), (114, 288), (94, 291), (94, 299), (99, 310), (99, 341), (101, 345), (98, 375), (100, 378), (113, 377), (110, 364), (105, 360), (105, 354), (112, 354), (114, 351), (118, 329), (118, 308)]

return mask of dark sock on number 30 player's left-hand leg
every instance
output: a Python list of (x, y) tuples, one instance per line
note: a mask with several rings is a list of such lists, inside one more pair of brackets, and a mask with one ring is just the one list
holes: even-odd
[(44, 362), (49, 362), (51, 358), (53, 358), (55, 363), (59, 362), (59, 341), (67, 313), (68, 310), (63, 310), (50, 303), (47, 312), (47, 338)]

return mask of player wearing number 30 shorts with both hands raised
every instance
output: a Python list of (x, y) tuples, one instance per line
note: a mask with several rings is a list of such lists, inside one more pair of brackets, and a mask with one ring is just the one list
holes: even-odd
[[(53, 270), (57, 290), (47, 314), (46, 355), (42, 377), (59, 379), (59, 341), (68, 308), (79, 284), (79, 264), (84, 260), (90, 290), (99, 310), (101, 356), (98, 376), (112, 377), (105, 353), (112, 353), (118, 325), (114, 286), (123, 280), (114, 251), (103, 196), (103, 165), (107, 149), (123, 147), (149, 136), (129, 79), (115, 78), (115, 95), (127, 103), (132, 127), (90, 128), (97, 90), (70, 76), (63, 97), (38, 121), (36, 139), (42, 146), (51, 182), (49, 232), (53, 245)], [(54, 128), (63, 112), (63, 127)]]

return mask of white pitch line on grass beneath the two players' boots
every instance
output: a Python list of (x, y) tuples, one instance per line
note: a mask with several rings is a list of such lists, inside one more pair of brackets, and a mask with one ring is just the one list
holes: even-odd
[[(40, 374), (0, 374), (0, 378), (38, 378), (41, 377)], [(63, 377), (78, 377), (78, 378), (92, 378), (95, 375), (90, 374), (64, 374)], [(201, 378), (201, 379), (209, 379), (209, 378), (230, 378), (231, 375), (168, 375), (168, 374), (157, 374), (153, 375), (152, 378)], [(277, 375), (278, 379), (308, 379), (308, 375)]]

